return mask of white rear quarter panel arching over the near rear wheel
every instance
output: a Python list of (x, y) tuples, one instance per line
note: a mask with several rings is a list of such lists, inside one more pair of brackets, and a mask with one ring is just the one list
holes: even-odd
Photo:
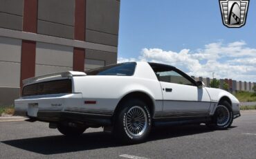
[[(87, 75), (73, 77), (74, 92), (82, 93), (82, 100), (96, 101), (96, 104), (82, 104), (80, 111), (103, 111), (113, 113), (118, 102), (125, 95), (140, 91), (152, 100), (162, 100), (160, 83), (154, 79), (134, 76)], [(155, 103), (155, 109), (162, 110), (163, 104)], [(71, 109), (71, 108), (65, 108)]]

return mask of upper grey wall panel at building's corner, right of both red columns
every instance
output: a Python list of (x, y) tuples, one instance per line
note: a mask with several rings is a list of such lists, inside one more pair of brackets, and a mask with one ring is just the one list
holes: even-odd
[(86, 0), (86, 41), (118, 46), (119, 6), (120, 1)]

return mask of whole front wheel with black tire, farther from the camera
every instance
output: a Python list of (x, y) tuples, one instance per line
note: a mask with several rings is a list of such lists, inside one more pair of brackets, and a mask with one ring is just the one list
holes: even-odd
[(233, 122), (233, 112), (227, 101), (220, 102), (217, 106), (212, 122), (208, 124), (210, 129), (224, 130), (228, 129)]

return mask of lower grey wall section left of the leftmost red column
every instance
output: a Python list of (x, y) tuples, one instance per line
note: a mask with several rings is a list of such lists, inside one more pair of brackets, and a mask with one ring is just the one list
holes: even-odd
[[(0, 37), (0, 106), (19, 97), (21, 39)], [(4, 100), (1, 100), (4, 99)]]

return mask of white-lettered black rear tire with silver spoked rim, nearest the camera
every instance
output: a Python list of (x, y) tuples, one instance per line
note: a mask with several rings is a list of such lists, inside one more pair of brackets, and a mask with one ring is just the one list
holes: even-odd
[(152, 128), (149, 107), (138, 99), (122, 102), (115, 119), (113, 135), (119, 142), (126, 144), (145, 141)]

